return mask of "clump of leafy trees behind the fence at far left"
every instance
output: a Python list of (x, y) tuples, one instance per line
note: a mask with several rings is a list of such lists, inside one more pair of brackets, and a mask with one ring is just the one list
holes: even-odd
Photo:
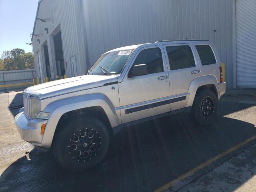
[(5, 50), (1, 58), (3, 64), (0, 63), (0, 70), (30, 69), (34, 66), (34, 55), (31, 52), (25, 53), (20, 48)]

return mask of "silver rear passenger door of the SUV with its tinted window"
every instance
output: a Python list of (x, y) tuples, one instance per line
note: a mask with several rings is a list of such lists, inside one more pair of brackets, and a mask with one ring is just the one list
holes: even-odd
[(170, 78), (171, 110), (186, 107), (190, 82), (201, 76), (194, 50), (189, 44), (166, 44), (164, 51)]

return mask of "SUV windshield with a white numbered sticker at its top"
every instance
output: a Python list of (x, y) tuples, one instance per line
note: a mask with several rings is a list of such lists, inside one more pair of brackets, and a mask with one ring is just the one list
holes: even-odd
[(103, 54), (88, 70), (87, 75), (120, 74), (132, 50), (112, 51)]

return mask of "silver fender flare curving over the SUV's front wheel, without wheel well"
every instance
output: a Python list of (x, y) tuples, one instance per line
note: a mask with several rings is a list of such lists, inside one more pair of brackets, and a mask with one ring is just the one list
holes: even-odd
[(100, 106), (103, 108), (112, 127), (116, 127), (120, 124), (115, 107), (104, 94), (79, 95), (56, 100), (44, 108), (44, 112), (50, 112), (50, 118), (46, 124), (42, 139), (42, 147), (49, 148), (51, 146), (56, 126), (63, 114), (93, 106)]

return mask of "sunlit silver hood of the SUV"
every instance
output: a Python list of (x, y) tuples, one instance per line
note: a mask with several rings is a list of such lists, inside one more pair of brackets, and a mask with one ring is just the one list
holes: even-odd
[(83, 75), (31, 86), (26, 88), (24, 92), (44, 99), (70, 92), (100, 87), (106, 83), (116, 81), (116, 76)]

